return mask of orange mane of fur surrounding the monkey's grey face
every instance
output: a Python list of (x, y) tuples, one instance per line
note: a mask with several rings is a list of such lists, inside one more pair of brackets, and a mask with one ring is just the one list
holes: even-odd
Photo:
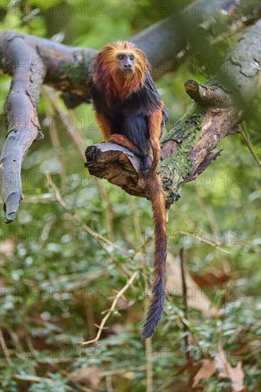
[[(116, 57), (120, 53), (132, 53), (135, 57), (134, 73), (124, 75), (118, 71)], [(108, 43), (99, 51), (91, 65), (93, 83), (110, 99), (124, 100), (143, 86), (149, 63), (143, 51), (133, 42)]]

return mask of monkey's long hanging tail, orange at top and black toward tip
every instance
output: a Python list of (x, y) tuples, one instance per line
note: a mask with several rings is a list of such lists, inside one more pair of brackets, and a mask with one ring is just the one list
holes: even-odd
[(160, 175), (155, 172), (148, 177), (148, 191), (155, 227), (153, 298), (142, 327), (141, 339), (147, 339), (154, 334), (163, 315), (165, 301), (165, 262), (167, 258), (165, 198)]

